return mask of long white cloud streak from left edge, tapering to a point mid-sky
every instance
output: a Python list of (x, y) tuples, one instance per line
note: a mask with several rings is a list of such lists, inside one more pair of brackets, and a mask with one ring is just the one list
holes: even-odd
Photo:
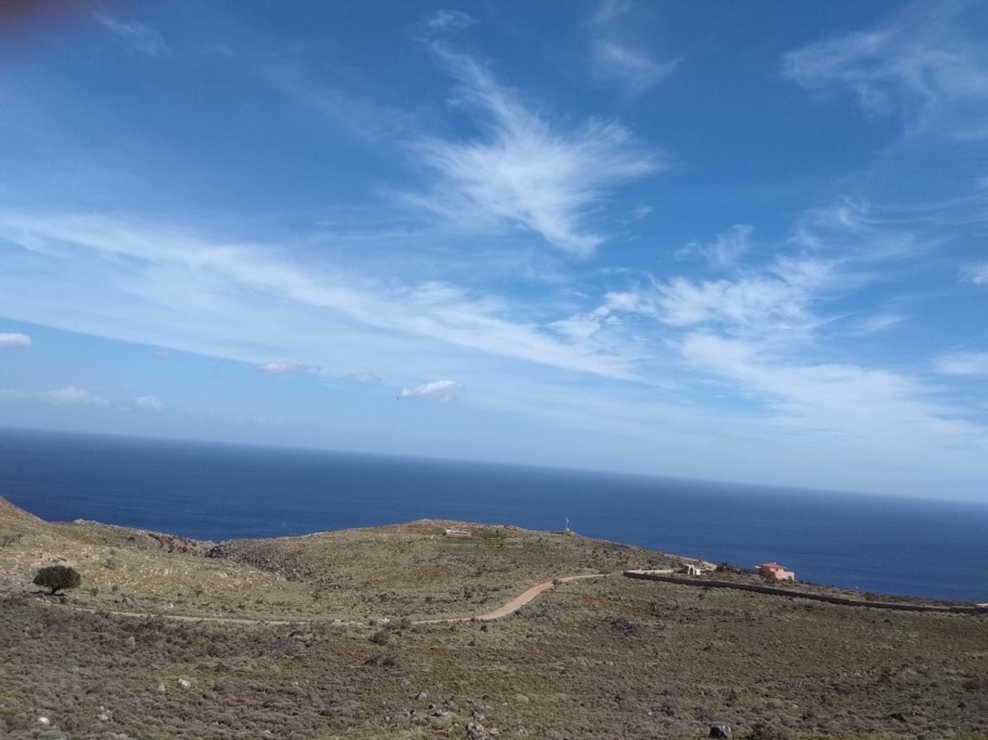
[[(382, 285), (376, 276), (365, 278), (325, 261), (302, 269), (276, 246), (210, 241), (175, 229), (54, 213), (0, 213), (0, 235), (8, 239), (8, 248), (30, 245), (39, 269), (51, 276), (52, 289), (56, 284), (62, 288), (60, 304), (79, 301), (78, 311), (66, 309), (61, 318), (50, 317), (64, 328), (102, 333), (113, 327), (122, 339), (158, 345), (180, 335), (183, 341), (175, 349), (221, 351), (262, 365), (268, 361), (252, 355), (267, 354), (272, 346), (309, 354), (306, 334), (325, 335), (327, 322), (332, 322), (338, 327), (333, 342), (354, 337), (354, 357), (368, 355), (369, 348), (381, 353), (369, 356), (373, 362), (368, 364), (375, 367), (407, 365), (395, 353), (411, 347), (409, 337), (414, 337), (547, 367), (608, 377), (634, 374), (627, 359), (608, 346), (560, 341), (531, 317), (514, 317), (517, 312), (493, 296), (435, 281)], [(126, 262), (108, 262), (107, 256)], [(104, 282), (98, 295), (70, 277), (93, 271)], [(0, 287), (0, 306), (30, 304), (43, 311), (56, 304), (40, 300), (16, 281), (4, 281), (2, 274)], [(80, 322), (96, 313), (98, 319), (83, 329)], [(286, 326), (298, 328), (288, 331)], [(355, 334), (355, 326), (363, 332)], [(396, 334), (380, 334), (378, 342), (369, 344), (369, 328)], [(190, 344), (191, 337), (199, 339)], [(329, 344), (327, 340), (323, 356), (316, 358), (324, 368), (338, 364), (333, 358), (345, 357), (329, 352)]]

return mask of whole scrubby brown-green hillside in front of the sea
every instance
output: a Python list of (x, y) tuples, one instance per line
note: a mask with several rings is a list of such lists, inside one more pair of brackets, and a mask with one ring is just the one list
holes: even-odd
[[(473, 722), (502, 738), (700, 738), (713, 723), (763, 740), (988, 737), (986, 617), (632, 581), (619, 571), (675, 558), (508, 528), (457, 541), (449, 525), (214, 547), (0, 501), (0, 736), (464, 738)], [(59, 558), (84, 578), (67, 604), (30, 586)], [(590, 571), (614, 575), (496, 621), (376, 621), (477, 614)], [(103, 611), (72, 609), (86, 605)]]

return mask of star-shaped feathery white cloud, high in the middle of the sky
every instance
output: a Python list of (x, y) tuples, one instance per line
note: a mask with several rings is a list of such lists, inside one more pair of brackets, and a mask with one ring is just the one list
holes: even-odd
[(472, 57), (432, 48), (486, 135), (419, 142), (416, 153), (440, 181), (431, 194), (408, 200), (464, 227), (521, 226), (566, 252), (594, 252), (607, 237), (588, 225), (588, 212), (610, 189), (658, 170), (658, 153), (617, 123), (554, 127)]

